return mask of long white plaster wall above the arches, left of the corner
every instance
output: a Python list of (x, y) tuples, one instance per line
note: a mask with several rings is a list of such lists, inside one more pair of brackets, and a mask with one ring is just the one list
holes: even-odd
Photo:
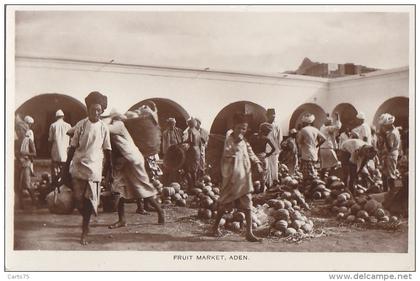
[(203, 126), (211, 124), (223, 107), (241, 100), (273, 107), (284, 132), (293, 111), (302, 103), (328, 101), (326, 79), (288, 75), (267, 77), (187, 70), (75, 63), (22, 58), (15, 66), (15, 108), (45, 93), (75, 97), (83, 102), (97, 90), (109, 98), (109, 108), (126, 111), (152, 97), (171, 99)]

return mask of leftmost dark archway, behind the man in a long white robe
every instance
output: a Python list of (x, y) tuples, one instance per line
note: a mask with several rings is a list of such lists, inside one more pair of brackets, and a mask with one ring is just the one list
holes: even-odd
[(48, 159), (51, 157), (48, 132), (50, 125), (55, 121), (55, 113), (58, 109), (64, 111), (64, 120), (72, 126), (86, 117), (86, 107), (83, 103), (62, 94), (35, 96), (24, 102), (15, 112), (22, 118), (26, 115), (34, 118), (35, 123), (32, 130), (35, 135), (38, 158)]

